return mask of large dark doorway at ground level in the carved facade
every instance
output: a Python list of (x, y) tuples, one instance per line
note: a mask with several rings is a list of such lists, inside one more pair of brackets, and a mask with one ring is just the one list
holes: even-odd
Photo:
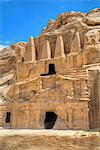
[(46, 112), (45, 114), (45, 129), (52, 129), (57, 119), (57, 115), (54, 112)]

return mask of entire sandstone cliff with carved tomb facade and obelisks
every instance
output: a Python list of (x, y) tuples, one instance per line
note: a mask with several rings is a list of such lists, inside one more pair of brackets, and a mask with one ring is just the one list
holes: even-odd
[(63, 13), (0, 53), (0, 126), (100, 127), (100, 9)]

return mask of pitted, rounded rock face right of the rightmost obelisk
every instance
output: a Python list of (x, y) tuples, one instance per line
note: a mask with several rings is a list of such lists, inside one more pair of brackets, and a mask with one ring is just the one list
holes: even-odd
[(100, 29), (91, 29), (85, 34), (83, 63), (100, 61)]

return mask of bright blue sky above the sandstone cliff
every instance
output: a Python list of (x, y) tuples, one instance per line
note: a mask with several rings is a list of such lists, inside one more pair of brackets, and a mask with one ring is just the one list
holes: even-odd
[(36, 37), (60, 13), (94, 8), (100, 0), (0, 0), (0, 45)]

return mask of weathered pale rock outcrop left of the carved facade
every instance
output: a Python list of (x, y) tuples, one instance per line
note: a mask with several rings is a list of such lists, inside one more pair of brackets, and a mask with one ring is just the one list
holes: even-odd
[(5, 100), (3, 91), (13, 83), (14, 73), (16, 71), (15, 50), (19, 46), (25, 46), (25, 42), (12, 44), (9, 47), (0, 50), (0, 101)]

